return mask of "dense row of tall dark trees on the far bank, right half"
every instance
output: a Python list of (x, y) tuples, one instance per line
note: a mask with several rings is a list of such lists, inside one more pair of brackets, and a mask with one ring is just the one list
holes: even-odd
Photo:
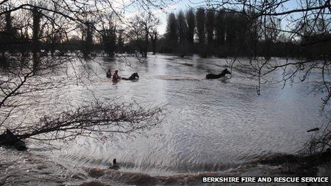
[[(188, 9), (169, 14), (159, 52), (200, 56), (330, 56), (330, 32), (297, 29), (286, 33), (277, 18), (255, 18), (253, 12)], [(300, 27), (300, 25), (298, 25)]]

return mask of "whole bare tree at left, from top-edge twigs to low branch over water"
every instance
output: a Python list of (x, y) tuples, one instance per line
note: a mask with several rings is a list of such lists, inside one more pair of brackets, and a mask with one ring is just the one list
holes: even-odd
[[(153, 1), (134, 1), (141, 8), (154, 6)], [(4, 34), (0, 34), (1, 63), (8, 66), (0, 68), (0, 145), (17, 145), (26, 138), (56, 140), (88, 135), (96, 138), (98, 131), (132, 134), (153, 127), (161, 121), (162, 109), (143, 107), (132, 103), (103, 101), (94, 97), (89, 105), (69, 104), (68, 108), (58, 108), (56, 101), (66, 100), (54, 91), (66, 90), (68, 86), (92, 83), (88, 81), (96, 73), (81, 57), (88, 56), (93, 47), (95, 33), (102, 32), (105, 19), (103, 12), (114, 12), (121, 21), (122, 15), (113, 9), (112, 1), (0, 1), (0, 32), (14, 28), (14, 21), (20, 22), (17, 28), (17, 43), (20, 51), (9, 53)], [(146, 13), (146, 14), (149, 14)], [(3, 18), (3, 16), (5, 18)], [(150, 15), (152, 16), (152, 15)], [(157, 21), (156, 21), (157, 22)], [(148, 31), (156, 22), (149, 25)], [(81, 30), (81, 31), (79, 31)], [(82, 41), (77, 36), (80, 35)], [(56, 45), (56, 46), (55, 46)], [(31, 50), (24, 49), (31, 47)], [(82, 48), (83, 47), (83, 48)], [(50, 48), (50, 49), (48, 49)], [(48, 55), (48, 51), (66, 48), (66, 56)], [(81, 49), (80, 51), (76, 50)], [(78, 54), (78, 55), (77, 55)], [(79, 73), (84, 71), (84, 73)], [(87, 80), (87, 82), (86, 82)], [(54, 98), (54, 96), (56, 96)], [(93, 96), (92, 96), (93, 97)], [(103, 104), (101, 104), (103, 103)], [(51, 112), (40, 109), (48, 105)], [(52, 108), (54, 107), (54, 108)], [(21, 115), (19, 118), (12, 115)], [(45, 134), (45, 138), (41, 136)], [(24, 144), (23, 144), (24, 145)], [(16, 146), (17, 147), (17, 146)]]

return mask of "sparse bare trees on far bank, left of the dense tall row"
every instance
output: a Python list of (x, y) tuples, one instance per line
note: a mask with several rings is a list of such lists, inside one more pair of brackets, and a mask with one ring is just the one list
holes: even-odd
[(116, 21), (110, 14), (106, 20), (63, 24), (61, 19), (46, 16), (38, 8), (22, 14), (8, 11), (0, 14), (0, 62), (6, 63), (11, 55), (32, 55), (36, 60), (41, 55), (61, 56), (73, 51), (84, 57), (93, 56), (94, 52), (108, 56), (115, 53), (147, 56), (148, 46), (156, 48), (158, 19), (141, 14), (132, 18), (128, 26)]

